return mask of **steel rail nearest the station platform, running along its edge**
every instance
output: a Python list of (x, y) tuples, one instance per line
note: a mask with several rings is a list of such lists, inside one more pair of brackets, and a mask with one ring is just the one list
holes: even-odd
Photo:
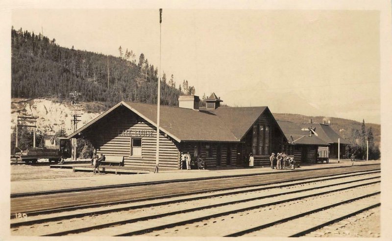
[[(36, 192), (24, 192), (24, 193), (11, 193), (10, 197), (24, 197), (24, 196), (36, 196), (36, 195), (48, 195), (52, 193), (62, 193), (62, 192), (74, 192), (74, 191), (88, 191), (95, 189), (106, 189), (106, 188), (119, 188), (119, 187), (139, 187), (139, 186), (147, 186), (147, 185), (157, 185), (157, 184), (167, 184), (167, 183), (178, 183), (178, 182), (192, 182), (192, 181), (203, 181), (203, 180), (214, 180), (214, 179), (224, 179), (224, 178), (240, 178), (240, 177), (251, 177), (251, 176), (263, 176), (270, 174), (280, 174), (280, 173), (295, 173), (295, 172), (308, 172), (308, 171), (317, 171), (317, 170), (325, 170), (325, 169), (338, 169), (338, 168), (352, 168), (352, 167), (368, 167), (373, 165), (380, 165), (379, 163), (375, 164), (364, 164), (357, 166), (339, 166), (339, 167), (322, 167), (322, 168), (314, 168), (314, 169), (303, 169), (303, 170), (285, 170), (285, 171), (277, 171), (277, 172), (267, 172), (267, 173), (248, 173), (248, 174), (237, 174), (237, 175), (224, 175), (224, 176), (214, 176), (214, 177), (200, 177), (200, 178), (187, 178), (187, 179), (173, 179), (173, 180), (165, 180), (165, 181), (153, 181), (153, 182), (143, 182), (143, 183), (132, 183), (132, 184), (118, 184), (118, 185), (106, 185), (106, 186), (98, 186), (98, 187), (80, 187), (80, 188), (68, 188), (68, 189), (60, 189), (60, 190), (47, 190), (47, 191), (36, 191)], [(381, 168), (376, 168), (373, 170), (381, 170)]]

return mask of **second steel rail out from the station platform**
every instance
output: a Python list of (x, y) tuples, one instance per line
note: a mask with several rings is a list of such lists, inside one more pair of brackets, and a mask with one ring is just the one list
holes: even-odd
[[(321, 177), (308, 177), (308, 178), (299, 178), (299, 179), (294, 179), (294, 180), (285, 180), (285, 181), (273, 181), (273, 182), (267, 182), (267, 183), (262, 183), (262, 184), (252, 184), (249, 185), (247, 181), (242, 182), (243, 184), (238, 185), (237, 187), (218, 187), (218, 188), (211, 188), (208, 190), (193, 190), (193, 191), (188, 191), (188, 192), (182, 192), (182, 193), (174, 193), (174, 194), (167, 194), (167, 195), (160, 195), (160, 196), (153, 196), (153, 197), (146, 197), (146, 198), (138, 198), (138, 199), (125, 199), (121, 201), (108, 201), (108, 202), (96, 202), (94, 204), (79, 204), (75, 205), (74, 203), (69, 206), (62, 206), (60, 208), (56, 209), (43, 209), (41, 210), (34, 210), (30, 212), (24, 212), (28, 216), (34, 216), (34, 215), (39, 215), (39, 214), (48, 214), (48, 213), (59, 213), (59, 212), (65, 212), (65, 211), (72, 211), (72, 210), (77, 210), (77, 209), (86, 209), (86, 208), (94, 208), (94, 207), (102, 207), (102, 206), (107, 206), (107, 205), (116, 205), (116, 204), (124, 204), (124, 203), (134, 203), (134, 202), (141, 202), (141, 201), (149, 201), (149, 200), (156, 200), (156, 199), (164, 199), (164, 198), (174, 198), (174, 197), (180, 197), (180, 196), (185, 196), (185, 195), (196, 195), (200, 193), (205, 193), (205, 192), (216, 192), (216, 191), (225, 191), (225, 190), (232, 190), (233, 188), (246, 188), (246, 187), (256, 187), (253, 189), (253, 191), (256, 190), (263, 190), (263, 189), (268, 189), (268, 185), (278, 185), (278, 184), (283, 184), (280, 185), (279, 187), (289, 187), (289, 186), (295, 186), (298, 185), (296, 183), (291, 183), (291, 182), (296, 182), (296, 181), (303, 181), (301, 184), (307, 184), (307, 183), (312, 183), (312, 182), (322, 182), (322, 181), (328, 181), (328, 180), (333, 180), (333, 179), (342, 179), (342, 178), (347, 178), (347, 177), (354, 177), (354, 176), (361, 176), (361, 175), (368, 175), (368, 174), (375, 174), (379, 173), (380, 171), (378, 170), (370, 170), (370, 171), (360, 171), (360, 172), (353, 172), (353, 173), (341, 173), (341, 174), (333, 174), (333, 175), (325, 175)], [(340, 177), (336, 177), (340, 176)], [(315, 180), (316, 179), (316, 180)], [(272, 188), (272, 187), (270, 187)], [(237, 193), (242, 193), (246, 192), (247, 190), (241, 191), (241, 190), (235, 190), (235, 191), (230, 191), (228, 194), (225, 195), (231, 195), (231, 194), (237, 194)], [(109, 193), (110, 194), (110, 193)], [(83, 195), (83, 194), (80, 194)], [(103, 195), (103, 193), (100, 193), (100, 195)], [(210, 195), (207, 195), (210, 197)], [(213, 195), (211, 195), (213, 196)], [(208, 198), (207, 197), (207, 198)], [(39, 197), (37, 197), (39, 199)], [(39, 199), (41, 200), (41, 199)], [(182, 200), (183, 201), (183, 200)], [(15, 212), (13, 212), (15, 213)], [(16, 212), (18, 213), (18, 212)], [(14, 215), (10, 215), (11, 218), (14, 217)]]

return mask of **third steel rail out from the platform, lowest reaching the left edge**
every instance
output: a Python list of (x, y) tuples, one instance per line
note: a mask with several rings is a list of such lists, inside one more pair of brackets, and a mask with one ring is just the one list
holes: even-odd
[[(373, 174), (373, 173), (370, 173), (370, 174)], [(254, 192), (254, 191), (275, 189), (275, 188), (281, 188), (281, 187), (292, 187), (292, 186), (298, 186), (298, 185), (303, 185), (303, 184), (308, 184), (308, 183), (318, 183), (318, 182), (337, 180), (337, 179), (348, 178), (348, 177), (353, 177), (353, 176), (355, 176), (355, 175), (343, 176), (343, 177), (338, 177), (338, 178), (328, 178), (328, 179), (312, 180), (312, 181), (306, 181), (306, 182), (300, 182), (300, 183), (294, 183), (294, 184), (284, 184), (284, 185), (279, 185), (279, 186), (274, 186), (274, 187), (258, 187), (258, 188), (253, 188), (253, 189), (236, 190), (236, 191), (229, 191), (229, 192), (218, 193), (218, 194), (206, 194), (206, 195), (203, 195), (203, 196), (186, 197), (186, 198), (182, 198), (182, 199), (168, 200), (168, 201), (162, 201), (162, 202), (155, 202), (155, 203), (150, 203), (150, 204), (128, 205), (126, 207), (121, 207), (121, 208), (110, 208), (110, 209), (106, 209), (106, 210), (84, 212), (84, 213), (79, 213), (79, 214), (66, 214), (66, 215), (58, 215), (56, 217), (46, 217), (46, 218), (38, 218), (38, 219), (33, 219), (33, 220), (24, 220), (24, 221), (20, 221), (20, 222), (11, 222), (10, 225), (11, 225), (11, 228), (14, 228), (14, 227), (22, 226), (22, 225), (31, 225), (31, 224), (37, 224), (37, 223), (43, 223), (43, 222), (49, 222), (49, 221), (65, 220), (65, 219), (71, 219), (71, 218), (76, 218), (76, 217), (83, 217), (83, 216), (88, 216), (88, 215), (107, 214), (107, 213), (120, 212), (120, 211), (125, 211), (125, 210), (134, 210), (134, 209), (139, 209), (139, 208), (156, 207), (156, 206), (160, 206), (160, 205), (168, 205), (168, 204), (173, 204), (173, 203), (180, 203), (180, 202), (186, 202), (186, 201), (208, 199), (208, 198), (214, 198), (214, 197), (220, 197), (220, 196), (227, 196), (227, 195), (234, 195), (234, 194), (240, 194), (240, 193), (246, 193), (246, 192)], [(314, 189), (319, 189), (319, 188), (323, 188), (323, 187), (337, 186), (337, 185), (344, 185), (344, 184), (361, 182), (361, 181), (367, 181), (367, 180), (377, 179), (377, 178), (380, 178), (380, 176), (364, 178), (364, 179), (358, 179), (358, 180), (352, 180), (352, 181), (347, 181), (347, 182), (343, 182), (343, 183), (339, 183), (339, 184), (333, 184), (333, 185), (324, 185), (324, 186), (321, 186), (321, 187), (314, 187)], [(266, 186), (266, 185), (262, 185), (262, 186)], [(304, 189), (303, 191), (306, 191), (306, 190), (308, 190), (308, 189)], [(194, 194), (194, 193), (191, 193), (189, 195), (192, 195), (192, 194)], [(287, 194), (287, 193), (282, 193), (282, 194)], [(185, 195), (186, 194), (184, 194), (184, 196)], [(171, 196), (169, 196), (168, 198), (171, 198)], [(245, 199), (245, 201), (249, 201), (249, 200), (250, 199)], [(115, 204), (110, 203), (110, 205), (115, 205)], [(86, 207), (86, 208), (90, 208), (90, 207)], [(80, 207), (72, 208), (72, 210), (75, 210), (75, 209), (80, 209)], [(70, 210), (69, 208), (58, 209), (58, 210), (48, 210), (48, 211), (43, 211), (43, 212), (37, 212), (36, 214), (54, 213), (54, 211), (55, 212), (64, 212), (64, 211), (69, 211), (69, 210)], [(28, 214), (28, 216), (31, 216), (31, 215)]]

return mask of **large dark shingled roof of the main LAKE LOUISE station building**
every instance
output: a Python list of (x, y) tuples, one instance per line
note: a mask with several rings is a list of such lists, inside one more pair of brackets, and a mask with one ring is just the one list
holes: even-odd
[[(87, 129), (100, 118), (120, 106), (128, 108), (155, 127), (157, 106), (136, 102), (121, 102), (105, 111), (68, 138)], [(161, 106), (160, 130), (178, 142), (225, 141), (239, 142), (268, 107), (219, 107), (214, 111)], [(270, 111), (269, 111), (270, 112)], [(270, 114), (272, 116), (272, 114)], [(273, 116), (272, 116), (273, 118)]]

